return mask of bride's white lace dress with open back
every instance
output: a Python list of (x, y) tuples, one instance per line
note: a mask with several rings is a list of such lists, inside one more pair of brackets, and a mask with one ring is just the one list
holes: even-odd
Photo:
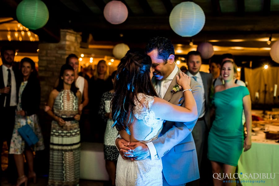
[[(145, 134), (142, 143), (148, 143), (157, 139), (162, 130), (163, 119), (156, 119), (150, 108), (154, 97), (138, 94), (135, 99), (135, 122), (148, 126), (148, 131), (140, 131)], [(146, 158), (144, 160), (126, 160), (118, 156), (116, 168), (117, 186), (161, 186), (162, 185), (162, 160)]]

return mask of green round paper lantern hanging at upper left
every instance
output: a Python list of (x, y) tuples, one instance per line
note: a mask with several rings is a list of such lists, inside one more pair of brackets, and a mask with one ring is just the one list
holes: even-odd
[(49, 13), (41, 0), (23, 0), (16, 8), (16, 17), (23, 26), (36, 30), (47, 24)]

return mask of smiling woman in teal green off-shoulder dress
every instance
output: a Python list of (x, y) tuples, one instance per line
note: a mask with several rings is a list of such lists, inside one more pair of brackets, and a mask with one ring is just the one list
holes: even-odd
[[(234, 83), (237, 67), (232, 61), (224, 61), (221, 76), (225, 84), (215, 87), (213, 104), (215, 106), (215, 120), (208, 136), (208, 154), (211, 161), (212, 173), (233, 175), (238, 159), (243, 151), (251, 148), (251, 99), (249, 91), (244, 86)], [(242, 110), (244, 109), (247, 127), (247, 137), (243, 136)], [(215, 174), (217, 173), (217, 174)], [(224, 180), (232, 180), (224, 178)], [(214, 185), (236, 185), (223, 183), (224, 180), (215, 179)]]

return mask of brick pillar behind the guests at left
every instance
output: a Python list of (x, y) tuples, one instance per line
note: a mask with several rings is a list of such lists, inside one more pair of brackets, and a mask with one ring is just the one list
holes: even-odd
[(39, 78), (41, 83), (41, 108), (59, 78), (60, 68), (69, 54), (79, 55), (81, 35), (73, 30), (61, 30), (59, 43), (39, 44)]

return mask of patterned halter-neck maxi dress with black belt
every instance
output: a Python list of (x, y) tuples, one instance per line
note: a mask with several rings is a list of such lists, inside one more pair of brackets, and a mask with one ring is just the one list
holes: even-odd
[[(67, 100), (69, 94), (69, 101)], [(70, 90), (62, 90), (55, 98), (54, 114), (66, 122), (61, 127), (51, 123), (49, 186), (79, 185), (80, 131), (78, 121), (78, 97)]]

